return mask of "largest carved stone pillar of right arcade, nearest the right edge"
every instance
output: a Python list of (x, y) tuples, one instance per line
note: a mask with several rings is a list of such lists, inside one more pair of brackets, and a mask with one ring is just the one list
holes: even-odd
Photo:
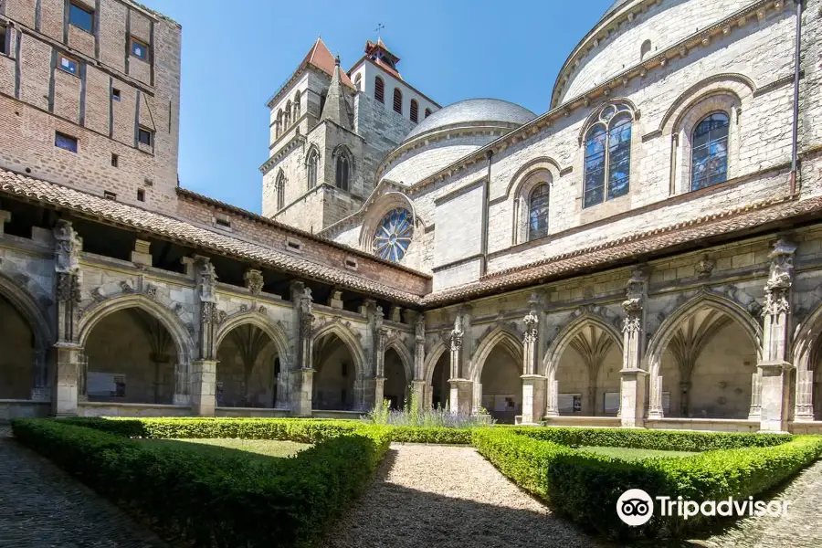
[(760, 429), (786, 432), (790, 402), (790, 374), (787, 361), (790, 324), (790, 290), (794, 275), (796, 245), (780, 238), (770, 254), (771, 268), (765, 283), (763, 308)]

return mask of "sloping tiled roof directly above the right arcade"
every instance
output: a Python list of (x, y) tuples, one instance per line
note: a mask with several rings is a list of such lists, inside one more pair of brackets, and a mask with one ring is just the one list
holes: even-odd
[(775, 201), (743, 205), (719, 214), (701, 216), (669, 227), (543, 258), (522, 267), (493, 272), (478, 281), (430, 293), (423, 298), (423, 303), (427, 306), (444, 305), (502, 290), (515, 290), (549, 279), (568, 277), (587, 269), (601, 269), (608, 264), (632, 260), (640, 255), (676, 248), (689, 242), (751, 230), (790, 217), (819, 214), (822, 214), (822, 196), (805, 200), (779, 198)]

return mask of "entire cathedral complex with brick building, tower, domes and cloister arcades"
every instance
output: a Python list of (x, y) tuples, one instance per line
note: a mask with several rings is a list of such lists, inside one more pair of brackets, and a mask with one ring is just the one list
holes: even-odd
[(0, 420), (822, 433), (822, 0), (617, 0), (542, 113), (318, 38), (261, 215), (180, 186), (181, 34), (0, 4)]

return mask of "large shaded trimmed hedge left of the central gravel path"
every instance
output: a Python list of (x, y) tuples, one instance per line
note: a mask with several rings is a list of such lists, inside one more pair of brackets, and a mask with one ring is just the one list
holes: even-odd
[[(146, 430), (167, 433), (163, 428), (171, 421), (95, 420), (94, 428), (72, 422), (91, 426), (88, 421), (16, 419), (12, 427), (21, 443), (157, 529), (207, 547), (314, 545), (371, 481), (390, 443), (386, 427), (294, 421), (267, 430), (278, 439), (293, 434), (295, 441), (317, 444), (294, 458), (260, 458), (230, 448), (221, 455), (216, 450), (199, 454), (187, 442), (175, 448), (124, 437)], [(216, 434), (231, 426), (222, 420), (174, 422), (176, 432), (188, 437), (220, 437)], [(250, 428), (244, 431), (261, 434), (262, 427)]]

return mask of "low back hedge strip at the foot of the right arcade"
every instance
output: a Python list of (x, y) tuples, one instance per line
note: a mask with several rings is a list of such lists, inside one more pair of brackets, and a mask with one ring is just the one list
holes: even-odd
[(662, 451), (711, 451), (714, 449), (765, 448), (790, 441), (790, 434), (743, 434), (689, 432), (682, 430), (628, 430), (583, 427), (513, 427), (523, 436), (553, 441), (564, 446), (641, 448)]

